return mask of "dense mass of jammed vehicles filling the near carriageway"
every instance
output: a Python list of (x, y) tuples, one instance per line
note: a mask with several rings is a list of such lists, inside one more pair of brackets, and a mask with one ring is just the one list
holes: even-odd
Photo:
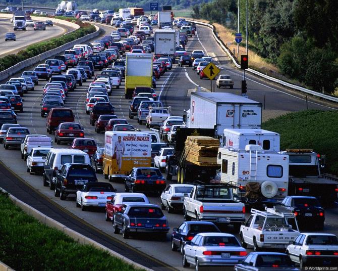
[[(280, 149), (261, 129), (262, 104), (227, 92), (231, 75), (192, 50), (196, 24), (140, 10), (79, 14), (111, 33), (0, 84), (3, 152), (20, 150), (24, 177), (62, 206), (132, 246), (154, 242), (153, 257), (172, 255), (177, 269), (338, 266), (338, 239), (325, 233), (338, 183), (321, 173), (325, 156)], [(160, 93), (180, 69), (219, 90), (192, 92), (175, 115)], [(21, 121), (33, 97), (39, 133)]]

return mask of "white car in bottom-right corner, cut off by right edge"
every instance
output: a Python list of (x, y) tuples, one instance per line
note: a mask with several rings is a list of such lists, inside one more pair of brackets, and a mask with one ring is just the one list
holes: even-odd
[(301, 233), (287, 247), (287, 254), (301, 270), (308, 265), (338, 266), (338, 239), (334, 234)]

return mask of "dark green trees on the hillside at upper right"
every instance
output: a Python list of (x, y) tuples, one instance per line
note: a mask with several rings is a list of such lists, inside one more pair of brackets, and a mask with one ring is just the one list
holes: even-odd
[[(236, 32), (238, 0), (193, 6), (192, 16)], [(250, 48), (281, 73), (317, 92), (338, 87), (337, 0), (248, 0)], [(240, 32), (245, 37), (246, 0), (240, 0)]]

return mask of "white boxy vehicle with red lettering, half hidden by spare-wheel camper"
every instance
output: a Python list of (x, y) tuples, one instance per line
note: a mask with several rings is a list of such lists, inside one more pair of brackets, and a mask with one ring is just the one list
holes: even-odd
[(280, 151), (280, 136), (277, 132), (262, 129), (224, 129), (220, 146), (227, 149), (245, 149), (246, 145), (262, 146), (263, 151)]

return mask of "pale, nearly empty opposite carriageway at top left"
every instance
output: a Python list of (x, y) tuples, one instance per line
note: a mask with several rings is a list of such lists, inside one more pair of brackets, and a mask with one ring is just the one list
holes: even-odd
[[(27, 27), (26, 31), (14, 31), (13, 23), (11, 23), (8, 18), (0, 17), (0, 57), (18, 53), (19, 50), (26, 48), (30, 44), (57, 37), (72, 30), (74, 30), (72, 27), (54, 24), (52, 27), (47, 26), (45, 31), (34, 31), (33, 27)], [(5, 34), (8, 32), (15, 32), (17, 36), (16, 41), (5, 41)]]

